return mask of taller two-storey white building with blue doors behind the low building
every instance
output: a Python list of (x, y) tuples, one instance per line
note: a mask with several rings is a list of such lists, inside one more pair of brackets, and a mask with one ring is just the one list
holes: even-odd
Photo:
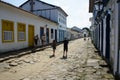
[[(45, 17), (49, 20), (58, 23), (58, 29), (56, 33), (56, 40), (58, 42), (63, 41), (66, 35), (67, 29), (67, 14), (58, 6), (48, 4), (41, 0), (28, 0), (23, 3), (20, 8), (32, 12), (38, 16)], [(43, 34), (43, 33), (41, 33)]]

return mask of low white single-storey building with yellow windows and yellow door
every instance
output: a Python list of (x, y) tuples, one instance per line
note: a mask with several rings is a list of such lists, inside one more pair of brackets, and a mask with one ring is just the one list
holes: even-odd
[(57, 29), (55, 21), (0, 1), (0, 53), (33, 46), (34, 36), (40, 37), (42, 32), (51, 43)]

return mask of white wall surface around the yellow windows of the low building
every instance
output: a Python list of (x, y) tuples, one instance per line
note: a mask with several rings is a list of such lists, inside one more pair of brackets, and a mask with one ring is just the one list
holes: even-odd
[[(1, 37), (1, 25), (0, 25), (0, 52), (21, 49), (28, 47), (28, 25), (35, 26), (35, 35), (40, 36), (40, 27), (48, 25), (49, 28), (57, 29), (57, 24), (49, 20), (40, 18), (31, 13), (25, 12), (23, 10), (17, 9), (15, 7), (9, 6), (4, 3), (0, 3), (0, 23), (1, 20), (10, 20), (14, 22), (14, 42), (12, 43), (2, 43)], [(18, 42), (17, 41), (17, 22), (26, 24), (26, 41)], [(51, 35), (51, 34), (49, 34)], [(50, 38), (51, 39), (51, 38)]]

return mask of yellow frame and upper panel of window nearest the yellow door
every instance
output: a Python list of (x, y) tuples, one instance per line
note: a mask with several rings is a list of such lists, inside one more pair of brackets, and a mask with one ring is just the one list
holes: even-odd
[[(19, 40), (19, 32), (24, 32), (24, 40)], [(17, 23), (17, 40), (20, 41), (26, 41), (26, 24), (24, 23)]]

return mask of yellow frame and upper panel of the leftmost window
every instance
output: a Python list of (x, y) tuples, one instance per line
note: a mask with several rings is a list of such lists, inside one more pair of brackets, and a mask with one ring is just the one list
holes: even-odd
[[(4, 31), (12, 31), (12, 40), (4, 40)], [(14, 42), (14, 22), (9, 20), (2, 20), (2, 42)]]

